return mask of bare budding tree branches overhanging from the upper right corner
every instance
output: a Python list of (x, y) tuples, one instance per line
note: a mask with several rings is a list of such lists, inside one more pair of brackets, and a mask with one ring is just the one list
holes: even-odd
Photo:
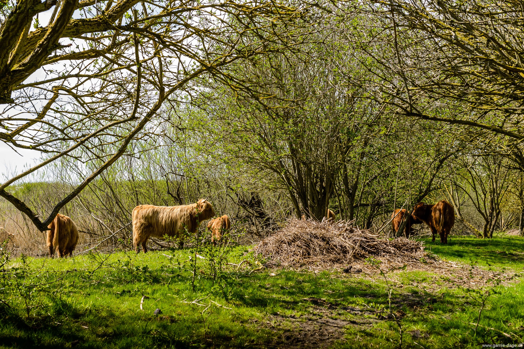
[(450, 125), (477, 155), (524, 172), (521, 2), (371, 0), (355, 12), (365, 20), (353, 42), (375, 62), (377, 100), (407, 120)]

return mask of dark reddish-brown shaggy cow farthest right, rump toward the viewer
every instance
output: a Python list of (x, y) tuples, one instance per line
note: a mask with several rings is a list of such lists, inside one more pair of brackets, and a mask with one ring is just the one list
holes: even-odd
[(447, 243), (447, 235), (455, 224), (455, 212), (449, 202), (441, 200), (435, 205), (419, 202), (415, 205), (413, 216), (428, 224), (433, 235), (431, 241), (435, 241), (435, 234), (439, 234), (440, 242)]

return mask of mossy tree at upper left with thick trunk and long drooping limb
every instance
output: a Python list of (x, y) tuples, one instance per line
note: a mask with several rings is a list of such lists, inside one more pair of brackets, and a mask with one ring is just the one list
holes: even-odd
[[(36, 16), (46, 11), (41, 27)], [(203, 77), (239, 95), (270, 97), (236, 78), (232, 63), (297, 51), (319, 15), (303, 2), (0, 2), (0, 141), (42, 154), (0, 184), (0, 196), (46, 230), (94, 178), (134, 153), (130, 145), (161, 136), (163, 106), (192, 103), (205, 91)], [(76, 177), (50, 212), (10, 193), (56, 162)]]

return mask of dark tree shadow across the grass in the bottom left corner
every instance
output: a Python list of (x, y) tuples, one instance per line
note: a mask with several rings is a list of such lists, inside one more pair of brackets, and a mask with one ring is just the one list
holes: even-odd
[[(21, 319), (10, 316), (0, 323), (0, 346), (10, 348), (190, 348), (242, 347), (235, 342), (237, 331), (204, 326), (192, 319), (176, 317), (142, 317), (105, 314), (90, 316), (81, 322), (68, 322), (67, 317)], [(32, 323), (30, 323), (32, 321)], [(232, 334), (233, 333), (233, 334)], [(253, 334), (246, 332), (244, 336)], [(255, 335), (256, 336), (256, 335)]]

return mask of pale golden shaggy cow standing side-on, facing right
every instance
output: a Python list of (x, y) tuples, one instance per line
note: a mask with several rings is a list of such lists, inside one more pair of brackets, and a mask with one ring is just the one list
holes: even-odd
[[(133, 209), (133, 244), (136, 253), (142, 244), (147, 252), (146, 242), (150, 237), (164, 235), (180, 238), (184, 231), (195, 233), (200, 223), (215, 215), (213, 205), (200, 199), (194, 204), (180, 206), (139, 205)], [(183, 235), (180, 245), (183, 246)]]

